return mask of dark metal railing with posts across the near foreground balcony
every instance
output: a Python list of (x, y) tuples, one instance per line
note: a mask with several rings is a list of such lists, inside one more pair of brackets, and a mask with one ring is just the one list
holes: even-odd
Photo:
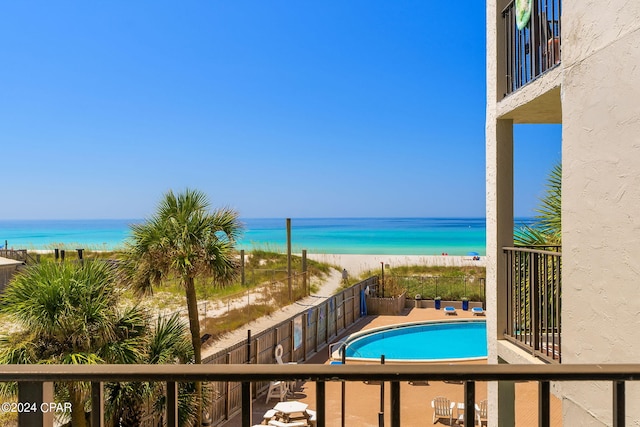
[[(4, 365), (0, 382), (17, 381), (21, 403), (35, 412), (21, 411), (20, 426), (52, 426), (48, 402), (51, 382), (91, 383), (91, 425), (104, 426), (103, 383), (154, 381), (166, 383), (166, 424), (178, 424), (178, 382), (222, 381), (241, 384), (242, 426), (252, 426), (251, 383), (272, 380), (315, 382), (317, 426), (327, 424), (326, 383), (381, 381), (390, 383), (390, 425), (400, 426), (400, 389), (407, 381), (463, 381), (465, 419), (474, 419), (476, 381), (537, 381), (538, 424), (550, 425), (551, 381), (611, 381), (612, 425), (624, 426), (625, 382), (640, 378), (640, 364), (627, 365)], [(9, 408), (10, 409), (10, 408)], [(331, 410), (331, 409), (330, 409)], [(411, 410), (415, 410), (412, 408)]]

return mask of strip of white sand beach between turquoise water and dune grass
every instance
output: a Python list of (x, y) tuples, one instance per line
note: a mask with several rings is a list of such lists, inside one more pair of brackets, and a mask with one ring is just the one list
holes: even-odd
[(424, 265), (442, 267), (484, 267), (485, 257), (474, 260), (473, 256), (454, 255), (353, 255), (353, 254), (307, 254), (309, 259), (346, 268), (349, 274), (360, 274), (363, 271), (403, 265)]

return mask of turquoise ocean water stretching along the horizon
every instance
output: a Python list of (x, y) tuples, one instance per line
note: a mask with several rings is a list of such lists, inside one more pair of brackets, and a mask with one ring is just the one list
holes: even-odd
[[(0, 246), (7, 241), (14, 249), (116, 249), (129, 237), (129, 225), (140, 221), (0, 220)], [(239, 249), (286, 251), (284, 218), (242, 222)], [(484, 218), (293, 218), (291, 228), (296, 253), (485, 255)]]

